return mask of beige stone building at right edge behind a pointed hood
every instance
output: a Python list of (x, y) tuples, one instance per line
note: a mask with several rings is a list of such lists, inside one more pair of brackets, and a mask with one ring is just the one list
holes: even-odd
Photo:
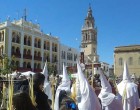
[(140, 76), (140, 45), (120, 46), (114, 50), (114, 73), (123, 73), (123, 62), (128, 64), (129, 73)]

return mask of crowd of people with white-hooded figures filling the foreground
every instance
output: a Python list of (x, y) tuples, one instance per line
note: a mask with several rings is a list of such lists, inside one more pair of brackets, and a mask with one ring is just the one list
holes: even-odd
[[(65, 67), (62, 77), (52, 74), (47, 79), (42, 73), (35, 73), (30, 77), (17, 73), (13, 78), (12, 110), (140, 110), (140, 80), (132, 81), (126, 64), (121, 80), (105, 76), (102, 70), (94, 75), (93, 83), (92, 78), (85, 78), (79, 68), (77, 74), (78, 79), (71, 79)], [(32, 79), (35, 102), (29, 93)], [(54, 89), (53, 92), (53, 89), (48, 90), (52, 92), (51, 98), (45, 92), (46, 82)], [(8, 83), (9, 80), (0, 77), (0, 110), (7, 110), (3, 106), (3, 85), (6, 85), (8, 91)]]

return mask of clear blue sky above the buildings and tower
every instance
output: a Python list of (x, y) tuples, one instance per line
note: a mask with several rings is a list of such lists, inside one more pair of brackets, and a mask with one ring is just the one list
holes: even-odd
[(1, 0), (0, 22), (7, 16), (21, 18), (26, 8), (28, 21), (37, 19), (44, 33), (79, 49), (89, 3), (98, 28), (100, 61), (113, 64), (114, 47), (140, 44), (140, 0)]

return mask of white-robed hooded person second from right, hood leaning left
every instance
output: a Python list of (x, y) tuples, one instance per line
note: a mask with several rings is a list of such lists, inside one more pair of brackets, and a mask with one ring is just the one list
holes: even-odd
[(98, 95), (98, 97), (101, 100), (102, 109), (103, 110), (123, 110), (122, 102), (119, 100), (118, 97), (116, 97), (112, 93), (112, 87), (109, 84), (108, 80), (102, 73), (102, 70), (99, 69), (100, 74), (100, 80), (101, 80), (101, 91)]

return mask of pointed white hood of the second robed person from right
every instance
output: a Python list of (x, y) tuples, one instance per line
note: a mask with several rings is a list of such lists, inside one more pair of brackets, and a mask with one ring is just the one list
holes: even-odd
[(99, 69), (99, 74), (100, 74), (100, 80), (101, 80), (101, 92), (108, 92), (112, 93), (112, 88), (108, 80), (106, 79), (105, 75), (103, 74), (101, 68)]

